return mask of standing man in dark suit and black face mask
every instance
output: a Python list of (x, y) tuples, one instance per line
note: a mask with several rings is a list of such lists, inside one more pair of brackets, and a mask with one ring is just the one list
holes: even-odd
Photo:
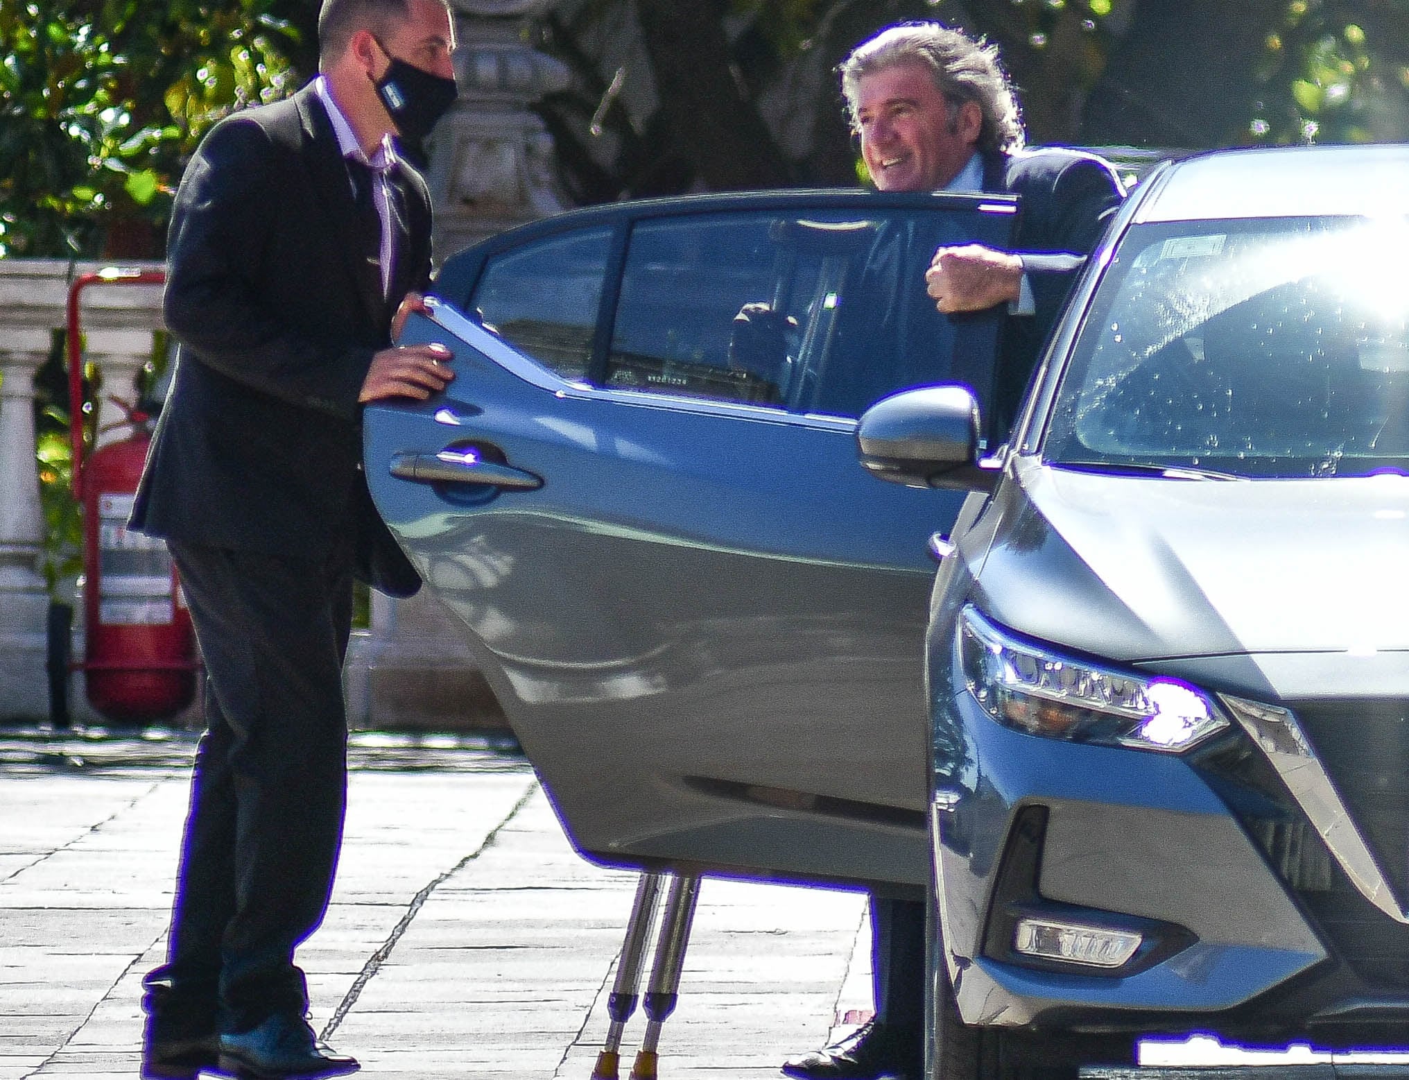
[[(168, 963), (144, 1074), (356, 1069), (304, 1019), (294, 949), (321, 922), (347, 790), (352, 578), (418, 581), (361, 474), (361, 407), (426, 399), (438, 345), (390, 347), (430, 278), (416, 140), (455, 97), (441, 0), (325, 0), (320, 76), (217, 124), (176, 195), (176, 374), (132, 510), (166, 537), (206, 661)], [(404, 297), (404, 299), (403, 299)]]

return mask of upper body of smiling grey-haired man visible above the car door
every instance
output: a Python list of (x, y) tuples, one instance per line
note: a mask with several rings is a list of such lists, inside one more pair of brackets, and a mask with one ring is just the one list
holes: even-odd
[(1012, 423), (1076, 271), (1124, 197), (1109, 164), (1024, 149), (998, 49), (940, 23), (900, 23), (840, 65), (861, 157), (883, 192), (982, 190), (1020, 199), (1012, 251), (940, 248), (927, 275), (941, 312), (1007, 305), (991, 431)]

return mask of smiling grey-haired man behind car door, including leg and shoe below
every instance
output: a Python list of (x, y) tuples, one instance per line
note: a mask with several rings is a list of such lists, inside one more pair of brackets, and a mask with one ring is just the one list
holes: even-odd
[[(1020, 197), (1012, 251), (940, 248), (926, 288), (948, 314), (1006, 306), (989, 431), (1006, 436), (1038, 351), (1086, 254), (1124, 192), (1110, 166), (1065, 149), (1027, 151), (996, 51), (938, 23), (881, 31), (841, 63), (841, 86), (876, 188)], [(871, 898), (875, 1018), (796, 1057), (802, 1080), (917, 1080), (923, 1056), (924, 904)]]

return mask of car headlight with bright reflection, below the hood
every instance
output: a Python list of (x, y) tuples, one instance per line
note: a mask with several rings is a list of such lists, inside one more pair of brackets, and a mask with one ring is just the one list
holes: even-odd
[(969, 694), (999, 723), (1076, 743), (1182, 753), (1229, 726), (1212, 698), (1177, 678), (1146, 678), (1009, 637), (974, 605), (960, 615)]

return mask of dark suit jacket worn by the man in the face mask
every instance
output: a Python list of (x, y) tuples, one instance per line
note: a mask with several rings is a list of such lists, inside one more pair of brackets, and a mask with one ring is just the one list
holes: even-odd
[(430, 279), (426, 182), (400, 164), (392, 179), (402, 220), (385, 302), (311, 86), (201, 141), (168, 240), (165, 317), (180, 354), (132, 527), (311, 558), (352, 533), (364, 578), (414, 591), (359, 470), (358, 392), (396, 303)]

